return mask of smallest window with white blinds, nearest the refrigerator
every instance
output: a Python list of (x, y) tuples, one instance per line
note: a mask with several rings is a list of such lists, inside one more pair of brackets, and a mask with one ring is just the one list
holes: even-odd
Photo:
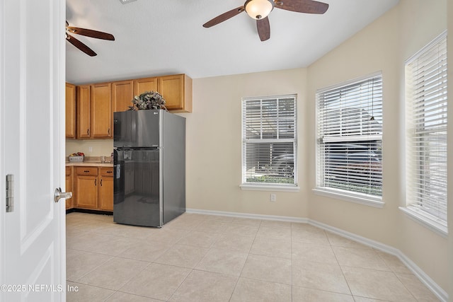
[(242, 100), (243, 185), (297, 185), (296, 95)]

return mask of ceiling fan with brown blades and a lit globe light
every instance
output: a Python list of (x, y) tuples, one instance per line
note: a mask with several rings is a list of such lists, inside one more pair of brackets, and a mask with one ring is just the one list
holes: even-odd
[(210, 28), (246, 11), (248, 16), (256, 19), (256, 27), (258, 28), (260, 40), (265, 41), (270, 38), (268, 15), (275, 7), (297, 13), (322, 14), (327, 11), (328, 4), (313, 0), (247, 0), (243, 6), (222, 13), (212, 20), (207, 21), (207, 23), (203, 24), (203, 27)]

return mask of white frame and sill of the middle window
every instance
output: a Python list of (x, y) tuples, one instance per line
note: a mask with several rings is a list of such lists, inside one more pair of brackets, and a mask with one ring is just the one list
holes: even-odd
[[(369, 74), (367, 76), (362, 76), (360, 78), (357, 78), (357, 79), (352, 79), (350, 81), (345, 81), (343, 83), (338, 83), (336, 85), (333, 85), (333, 86), (329, 86), (329, 87), (326, 87), (326, 88), (322, 88), (322, 89), (319, 89), (318, 91), (316, 91), (316, 129), (315, 129), (315, 132), (316, 132), (316, 141), (315, 141), (315, 153), (316, 153), (316, 183), (315, 183), (315, 187), (312, 189), (312, 191), (314, 192), (314, 194), (318, 194), (318, 195), (321, 195), (321, 196), (325, 196), (325, 197), (331, 197), (331, 198), (334, 198), (334, 199), (340, 199), (340, 200), (344, 200), (344, 201), (347, 201), (347, 202), (354, 202), (354, 203), (357, 203), (357, 204), (364, 204), (364, 205), (367, 205), (367, 206), (370, 206), (370, 207), (377, 207), (377, 208), (382, 208), (384, 207), (384, 202), (382, 201), (382, 191), (381, 191), (381, 195), (372, 195), (372, 194), (365, 194), (365, 193), (360, 193), (360, 192), (354, 192), (352, 190), (342, 190), (342, 189), (338, 189), (338, 188), (335, 188), (335, 187), (326, 187), (326, 186), (323, 186), (323, 177), (325, 177), (325, 175), (323, 175), (323, 169), (326, 168), (325, 166), (323, 166), (323, 168), (321, 169), (321, 146), (320, 146), (320, 137), (319, 137), (319, 120), (320, 120), (320, 104), (319, 104), (319, 98), (320, 98), (320, 94), (321, 93), (326, 93), (326, 91), (336, 91), (336, 90), (339, 90), (341, 88), (345, 88), (345, 87), (348, 87), (348, 86), (352, 86), (354, 85), (355, 83), (357, 83), (357, 85), (360, 85), (360, 83), (363, 83), (365, 81), (369, 81), (369, 80), (374, 80), (374, 79), (377, 79), (377, 77), (380, 78), (380, 81), (382, 82), (382, 86), (383, 86), (383, 82), (384, 82), (384, 79), (383, 79), (383, 76), (382, 76), (382, 71), (377, 71), (377, 72), (374, 72), (373, 74)], [(373, 92), (374, 93), (374, 92)], [(380, 107), (378, 107), (377, 110), (381, 110), (382, 112), (382, 109), (383, 109), (383, 94), (384, 94), (384, 89), (382, 88), (382, 91), (380, 92), (381, 95), (382, 95), (382, 101), (380, 103)], [(362, 126), (362, 124), (361, 124)], [(382, 127), (382, 123), (381, 123), (381, 127)], [(360, 129), (362, 129), (362, 127), (360, 127)], [(345, 136), (346, 137), (346, 136)], [(365, 137), (368, 137), (369, 139), (365, 139)], [(368, 136), (364, 136), (362, 139), (360, 139), (360, 141), (380, 141), (380, 143), (382, 144), (382, 137), (383, 137), (383, 132), (382, 132), (382, 129), (381, 129), (381, 134), (379, 135), (368, 135)], [(347, 138), (347, 137), (346, 137)], [(343, 141), (344, 144), (348, 144), (348, 139), (339, 139), (338, 140), (339, 142), (340, 141)], [(383, 149), (383, 148), (382, 148)], [(381, 160), (381, 171), (383, 170), (383, 165), (382, 165), (382, 160)], [(382, 174), (381, 174), (381, 187), (382, 187)], [(381, 189), (382, 190), (382, 189)]]

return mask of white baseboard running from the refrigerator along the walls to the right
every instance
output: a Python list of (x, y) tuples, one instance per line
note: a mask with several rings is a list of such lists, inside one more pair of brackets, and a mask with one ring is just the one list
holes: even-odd
[(246, 213), (237, 213), (237, 212), (229, 212), (229, 211), (210, 211), (210, 210), (200, 210), (200, 209), (186, 209), (186, 212), (193, 213), (193, 214), (207, 214), (207, 215), (217, 215), (217, 216), (229, 216), (229, 217), (238, 217), (238, 218), (251, 218), (251, 219), (265, 219), (265, 220), (274, 220), (274, 221), (287, 221), (287, 222), (298, 222), (298, 223), (309, 223), (312, 226), (317, 226), (319, 228), (323, 228), (326, 231), (331, 233), (335, 233), (338, 236), (342, 236), (348, 238), (350, 240), (354, 240), (358, 243), (362, 243), (363, 245), (367, 245), (371, 248), (376, 248), (377, 250), (382, 250), (383, 252), (389, 253), (390, 255), (394, 255), (398, 257), (401, 262), (408, 267), (408, 269), (413, 272), (413, 274), (420, 279), (420, 281), (425, 284), (432, 291), (433, 294), (440, 299), (440, 301), (448, 301), (448, 294), (444, 291), (434, 280), (432, 280), (428, 274), (425, 274), (418, 265), (409, 259), (406, 255), (398, 250), (397, 248), (391, 247), (390, 245), (385, 245), (383, 243), (379, 243), (377, 241), (358, 236), (354, 233), (350, 233), (347, 231), (343, 231), (340, 228), (335, 228), (333, 226), (329, 226), (326, 223), (321, 223), (319, 221), (315, 221), (313, 219), (306, 219), (306, 218), (299, 218), (299, 217), (291, 217), (291, 216), (274, 216), (274, 215), (262, 215), (262, 214), (246, 214)]

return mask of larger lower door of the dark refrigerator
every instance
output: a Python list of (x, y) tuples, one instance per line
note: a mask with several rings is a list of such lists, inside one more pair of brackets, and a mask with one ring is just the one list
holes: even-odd
[(162, 226), (159, 149), (116, 150), (113, 221)]

